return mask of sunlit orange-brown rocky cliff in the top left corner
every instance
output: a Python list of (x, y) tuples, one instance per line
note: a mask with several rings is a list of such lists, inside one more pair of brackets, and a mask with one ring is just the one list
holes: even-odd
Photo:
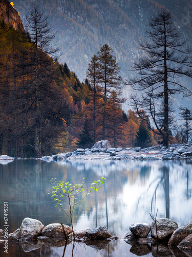
[(16, 30), (24, 30), (18, 12), (7, 0), (0, 0), (0, 21), (10, 24)]

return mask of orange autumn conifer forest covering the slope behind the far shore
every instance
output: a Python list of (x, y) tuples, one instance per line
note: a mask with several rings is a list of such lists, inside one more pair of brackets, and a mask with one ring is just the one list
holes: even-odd
[[(123, 111), (120, 68), (109, 45), (98, 49), (80, 82), (58, 61), (48, 17), (34, 7), (26, 19), (25, 31), (0, 24), (1, 154), (40, 158), (99, 140), (123, 148), (161, 143), (145, 109)], [(188, 140), (184, 132), (168, 133), (169, 143)]]

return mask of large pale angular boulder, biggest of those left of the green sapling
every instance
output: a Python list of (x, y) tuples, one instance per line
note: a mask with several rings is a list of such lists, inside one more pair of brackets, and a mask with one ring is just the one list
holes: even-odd
[(41, 233), (44, 227), (45, 226), (42, 225), (41, 222), (37, 221), (37, 219), (24, 218), (22, 226), (20, 226), (20, 229), (15, 232), (17, 232), (17, 235), (20, 234), (21, 241), (32, 241), (37, 240), (37, 236)]

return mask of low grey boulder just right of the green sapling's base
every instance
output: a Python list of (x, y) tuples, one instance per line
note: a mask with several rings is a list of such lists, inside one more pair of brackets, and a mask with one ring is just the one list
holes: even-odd
[(106, 240), (107, 238), (112, 237), (106, 227), (101, 226), (88, 230), (86, 235), (90, 240)]

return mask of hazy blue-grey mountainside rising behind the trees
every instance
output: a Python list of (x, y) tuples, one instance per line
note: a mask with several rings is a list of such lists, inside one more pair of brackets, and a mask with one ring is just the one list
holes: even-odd
[[(60, 48), (60, 62), (66, 62), (81, 81), (86, 78), (92, 56), (103, 44), (111, 46), (122, 78), (133, 76), (131, 66), (142, 54), (138, 48), (139, 42), (145, 40), (145, 24), (162, 7), (173, 14), (187, 45), (192, 42), (192, 0), (15, 0), (13, 3), (24, 24), (26, 14), (34, 6), (49, 15), (49, 23), (57, 31), (55, 42)], [(184, 77), (181, 80), (191, 86), (191, 80)], [(129, 86), (124, 86), (123, 97), (129, 98), (130, 91)], [(177, 96), (174, 101), (177, 106), (192, 106), (190, 97)], [(127, 101), (123, 109), (129, 108)]]

